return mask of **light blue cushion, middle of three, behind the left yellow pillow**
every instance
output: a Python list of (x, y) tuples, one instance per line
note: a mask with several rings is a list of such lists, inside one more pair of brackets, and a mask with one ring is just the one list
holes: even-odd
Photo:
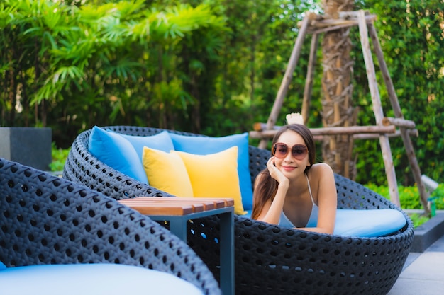
[(143, 146), (149, 147), (150, 149), (165, 151), (165, 153), (170, 153), (170, 151), (174, 150), (174, 145), (172, 144), (171, 137), (167, 131), (162, 131), (147, 137), (138, 137), (127, 134), (120, 135), (130, 141), (130, 144), (133, 145), (135, 152), (140, 158), (140, 163), (143, 163)]

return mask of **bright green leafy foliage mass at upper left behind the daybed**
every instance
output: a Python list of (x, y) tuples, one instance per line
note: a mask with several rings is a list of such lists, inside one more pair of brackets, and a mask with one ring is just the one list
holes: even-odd
[[(150, 100), (139, 106), (161, 108), (168, 95), (174, 108), (186, 111), (193, 99), (172, 73), (177, 59), (171, 54), (181, 50), (181, 40), (194, 31), (218, 32), (225, 25), (209, 6), (181, 4), (158, 10), (148, 8), (144, 0), (79, 6), (6, 0), (0, 4), (0, 16), (0, 46), (12, 52), (9, 59), (1, 59), (0, 68), (11, 70), (24, 82), (21, 87), (32, 89), (18, 100), (30, 105), (70, 100), (82, 109), (101, 101), (105, 113), (106, 105), (111, 108), (111, 120), (133, 108), (135, 97)], [(18, 83), (3, 86), (10, 91), (4, 96), (12, 100)]]

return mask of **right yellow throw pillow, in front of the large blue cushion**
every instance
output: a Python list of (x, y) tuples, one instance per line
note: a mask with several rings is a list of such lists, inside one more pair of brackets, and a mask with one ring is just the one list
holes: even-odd
[[(194, 197), (229, 197), (234, 199), (235, 214), (242, 215), (238, 175), (238, 146), (216, 154), (195, 155), (184, 151), (171, 151), (184, 161)], [(151, 180), (148, 177), (148, 181)]]

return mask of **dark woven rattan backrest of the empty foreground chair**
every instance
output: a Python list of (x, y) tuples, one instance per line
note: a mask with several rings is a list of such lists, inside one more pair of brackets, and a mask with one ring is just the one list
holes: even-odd
[(7, 267), (136, 265), (221, 294), (204, 262), (157, 222), (87, 187), (2, 158), (0, 261)]

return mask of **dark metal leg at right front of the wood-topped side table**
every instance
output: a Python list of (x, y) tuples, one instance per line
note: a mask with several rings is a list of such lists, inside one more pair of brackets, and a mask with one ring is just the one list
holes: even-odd
[(233, 211), (221, 217), (221, 290), (223, 295), (234, 294), (234, 215)]

